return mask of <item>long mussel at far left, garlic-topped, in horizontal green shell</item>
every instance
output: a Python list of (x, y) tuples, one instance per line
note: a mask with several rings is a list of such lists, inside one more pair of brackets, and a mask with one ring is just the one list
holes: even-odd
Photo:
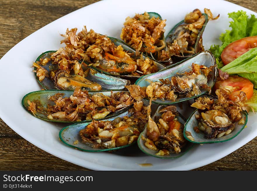
[(22, 98), (23, 108), (31, 115), (51, 122), (90, 122), (108, 119), (125, 112), (134, 100), (128, 91), (110, 90), (87, 92), (40, 90)]

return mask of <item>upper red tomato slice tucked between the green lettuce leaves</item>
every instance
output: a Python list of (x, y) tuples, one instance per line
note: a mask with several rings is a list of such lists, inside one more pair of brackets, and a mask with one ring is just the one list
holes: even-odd
[(255, 47), (257, 47), (257, 36), (245, 37), (231, 42), (221, 53), (222, 62), (224, 65), (227, 65)]

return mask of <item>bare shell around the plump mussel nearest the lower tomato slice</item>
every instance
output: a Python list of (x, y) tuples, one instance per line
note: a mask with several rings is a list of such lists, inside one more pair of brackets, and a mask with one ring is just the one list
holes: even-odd
[[(208, 95), (205, 95), (206, 97), (210, 97)], [(211, 97), (213, 99), (213, 97)], [(192, 143), (197, 143), (197, 144), (207, 144), (207, 143), (218, 143), (218, 142), (225, 142), (228, 140), (231, 140), (235, 138), (245, 127), (248, 119), (248, 113), (246, 111), (241, 111), (242, 119), (244, 119), (244, 124), (238, 124), (238, 122), (235, 123), (234, 129), (231, 131), (231, 133), (227, 135), (223, 135), (221, 137), (216, 138), (210, 138), (207, 139), (204, 136), (203, 132), (196, 132), (194, 130), (195, 127), (198, 127), (199, 121), (196, 119), (195, 115), (201, 115), (203, 110), (196, 109), (191, 116), (187, 119), (187, 122), (185, 123), (185, 128), (184, 128), (184, 137), (188, 141)], [(190, 135), (191, 134), (191, 135)], [(191, 136), (192, 138), (189, 138), (188, 136)]]

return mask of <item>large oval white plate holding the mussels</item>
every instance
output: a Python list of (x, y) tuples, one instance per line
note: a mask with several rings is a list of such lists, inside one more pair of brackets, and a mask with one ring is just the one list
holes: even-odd
[[(228, 12), (244, 10), (248, 15), (255, 14), (241, 6), (227, 1), (100, 1), (74, 11), (44, 26), (15, 45), (0, 60), (1, 99), (0, 117), (16, 133), (37, 147), (71, 163), (93, 170), (190, 170), (212, 163), (257, 136), (257, 121), (252, 113), (249, 115), (247, 128), (236, 138), (223, 143), (198, 145), (184, 156), (174, 160), (163, 160), (133, 150), (125, 153), (86, 153), (67, 147), (59, 141), (58, 133), (65, 124), (53, 124), (37, 119), (27, 113), (21, 106), (22, 97), (28, 92), (40, 90), (32, 72), (32, 63), (37, 56), (48, 50), (60, 48), (60, 34), (67, 28), (84, 25), (88, 30), (119, 38), (121, 27), (127, 16), (135, 13), (157, 12), (167, 19), (168, 32), (181, 21), (186, 13), (199, 8), (211, 9), (214, 16), (220, 14), (218, 20), (209, 21), (203, 34), (205, 49), (211, 44), (219, 43), (219, 35), (229, 28)], [(18, 74), (18, 76), (14, 75)], [(140, 163), (151, 163), (152, 166), (142, 167)]]

